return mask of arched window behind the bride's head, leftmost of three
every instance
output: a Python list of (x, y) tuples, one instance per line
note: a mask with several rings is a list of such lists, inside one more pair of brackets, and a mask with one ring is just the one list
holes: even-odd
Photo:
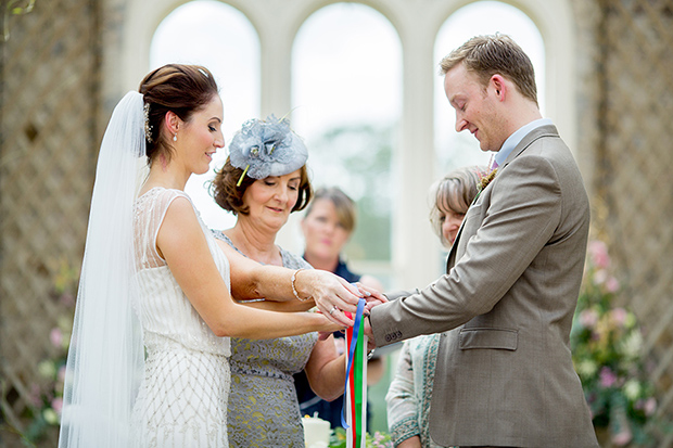
[[(156, 28), (150, 48), (151, 68), (174, 62), (203, 65), (215, 76), (225, 110), (223, 133), (227, 144), (243, 121), (259, 116), (259, 39), (240, 11), (204, 0), (176, 8)], [(211, 168), (221, 167), (226, 158), (223, 148)], [(212, 178), (212, 170), (192, 176), (186, 191), (208, 227), (226, 229), (236, 218), (207, 193)]]

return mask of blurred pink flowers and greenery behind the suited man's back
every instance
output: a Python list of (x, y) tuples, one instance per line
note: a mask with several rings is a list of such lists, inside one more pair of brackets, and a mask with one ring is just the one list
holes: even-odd
[(640, 356), (643, 334), (635, 315), (613, 305), (620, 291), (610, 273), (607, 246), (588, 245), (570, 343), (597, 432), (615, 446), (653, 441), (645, 425), (657, 409), (655, 387)]

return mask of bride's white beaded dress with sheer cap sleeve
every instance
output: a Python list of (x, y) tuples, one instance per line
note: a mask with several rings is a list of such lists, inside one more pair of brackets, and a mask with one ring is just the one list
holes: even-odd
[[(156, 236), (179, 190), (155, 188), (135, 206), (134, 229), (145, 346), (144, 377), (134, 406), (138, 447), (226, 448), (230, 341), (217, 337), (182, 293), (156, 251)], [(191, 202), (191, 201), (190, 201)], [(229, 285), (229, 261), (201, 221), (217, 269)]]

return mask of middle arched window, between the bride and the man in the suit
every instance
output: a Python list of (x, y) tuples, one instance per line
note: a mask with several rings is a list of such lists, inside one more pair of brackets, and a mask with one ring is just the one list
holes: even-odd
[(292, 52), (292, 124), (309, 151), (316, 187), (340, 187), (358, 205), (346, 246), (381, 280), (391, 258), (391, 163), (402, 112), (402, 48), (391, 23), (357, 3), (309, 16)]

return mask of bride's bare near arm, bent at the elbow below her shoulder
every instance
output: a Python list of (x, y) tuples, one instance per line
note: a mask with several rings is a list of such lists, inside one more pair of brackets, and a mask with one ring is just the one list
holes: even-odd
[[(234, 303), (215, 266), (193, 207), (185, 197), (176, 199), (168, 207), (156, 247), (192, 306), (218, 336), (274, 338), (344, 327), (316, 312), (271, 312)], [(277, 268), (255, 278), (262, 283), (287, 283), (292, 294), (292, 272)]]

